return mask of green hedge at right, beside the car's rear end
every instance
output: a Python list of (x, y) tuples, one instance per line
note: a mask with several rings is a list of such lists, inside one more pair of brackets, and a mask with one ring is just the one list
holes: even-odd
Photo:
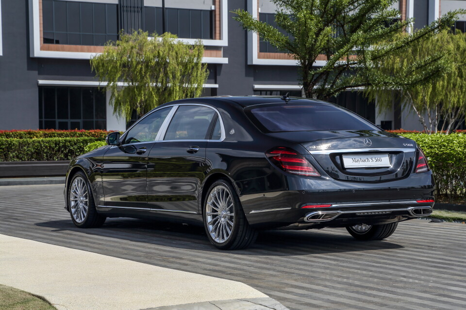
[(437, 195), (466, 196), (466, 134), (405, 133), (426, 155), (437, 183)]

